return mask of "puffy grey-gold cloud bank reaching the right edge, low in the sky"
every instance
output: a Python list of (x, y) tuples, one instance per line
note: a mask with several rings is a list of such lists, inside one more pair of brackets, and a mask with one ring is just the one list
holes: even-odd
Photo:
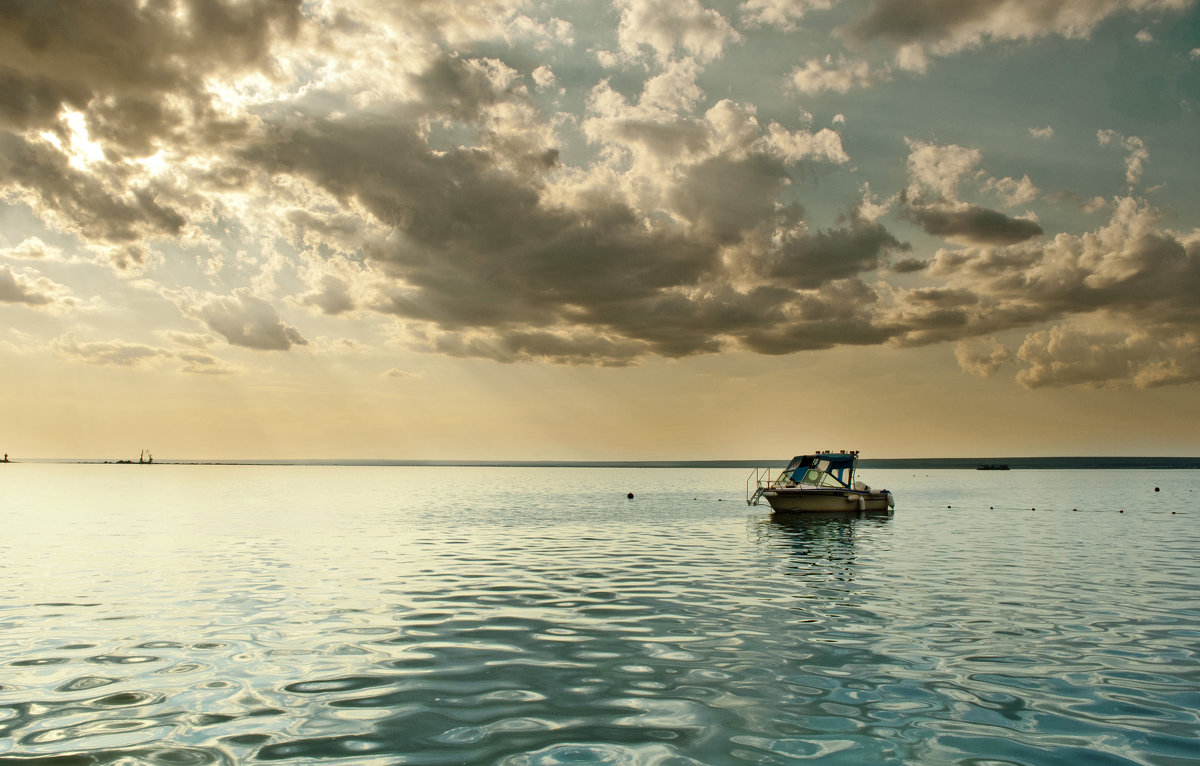
[[(923, 345), (1066, 323), (1026, 339), (1019, 358), (1032, 367), (1019, 382), (1150, 387), (1200, 379), (1200, 351), (1181, 340), (1200, 327), (1200, 235), (1156, 231), (1156, 215), (1123, 199), (1094, 233), (942, 251), (929, 274), (947, 287), (905, 297), (895, 311), (906, 328), (900, 340)], [(923, 307), (930, 297), (936, 311)], [(1070, 327), (1076, 321), (1104, 329)]]

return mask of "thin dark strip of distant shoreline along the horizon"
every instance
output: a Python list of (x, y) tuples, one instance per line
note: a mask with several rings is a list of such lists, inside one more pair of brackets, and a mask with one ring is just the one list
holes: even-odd
[[(72, 463), (121, 466), (358, 466), (409, 468), (769, 468), (784, 467), (787, 460), (128, 460), (25, 459), (11, 463)], [(983, 465), (1006, 465), (1012, 471), (1070, 469), (1200, 469), (1200, 457), (864, 457), (859, 468), (929, 471), (940, 468), (977, 469)]]

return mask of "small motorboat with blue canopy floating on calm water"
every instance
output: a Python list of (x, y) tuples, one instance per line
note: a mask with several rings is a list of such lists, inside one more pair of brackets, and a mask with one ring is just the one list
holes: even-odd
[(766, 499), (776, 513), (890, 510), (888, 490), (872, 490), (854, 480), (858, 451), (818, 451), (797, 455), (772, 479), (774, 468), (755, 468), (746, 479), (746, 504)]

